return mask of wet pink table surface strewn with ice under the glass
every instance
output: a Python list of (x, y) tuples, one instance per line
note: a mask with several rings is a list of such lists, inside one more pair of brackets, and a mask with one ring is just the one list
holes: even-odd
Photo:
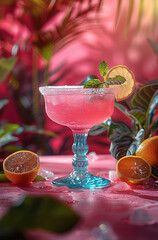
[[(44, 169), (52, 171), (54, 178), (66, 175), (72, 170), (71, 159), (72, 156), (40, 157), (39, 173)], [(89, 162), (88, 170), (109, 178), (109, 171), (115, 171), (115, 160), (110, 155), (99, 155)], [(158, 239), (157, 187), (130, 187), (121, 181), (113, 181), (110, 187), (104, 189), (75, 190), (55, 187), (52, 179), (32, 182), (23, 187), (0, 183), (0, 217), (24, 195), (49, 194), (72, 207), (81, 220), (71, 231), (62, 235), (41, 231), (27, 233), (32, 240)], [(107, 227), (109, 231), (106, 231)]]

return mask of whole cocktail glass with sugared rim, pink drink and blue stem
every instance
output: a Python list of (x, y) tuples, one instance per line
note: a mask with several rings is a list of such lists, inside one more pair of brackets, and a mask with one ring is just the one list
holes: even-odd
[(87, 135), (91, 127), (109, 119), (114, 110), (115, 94), (119, 87), (83, 88), (83, 86), (46, 86), (39, 90), (44, 96), (48, 117), (69, 127), (74, 136), (73, 171), (52, 181), (56, 186), (69, 188), (102, 188), (110, 181), (88, 172)]

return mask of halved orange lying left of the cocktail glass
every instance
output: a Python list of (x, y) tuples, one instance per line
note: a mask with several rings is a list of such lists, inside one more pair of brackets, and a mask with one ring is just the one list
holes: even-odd
[(37, 154), (30, 151), (17, 151), (3, 162), (6, 177), (15, 184), (27, 184), (37, 176), (40, 162)]

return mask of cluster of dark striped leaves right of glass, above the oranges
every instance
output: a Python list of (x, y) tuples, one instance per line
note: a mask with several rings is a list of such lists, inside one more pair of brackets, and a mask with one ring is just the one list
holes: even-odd
[(150, 81), (137, 90), (132, 99), (115, 102), (115, 106), (132, 121), (132, 127), (125, 122), (108, 120), (93, 127), (89, 134), (97, 135), (108, 131), (111, 141), (110, 153), (117, 160), (134, 154), (139, 144), (158, 132), (158, 80)]

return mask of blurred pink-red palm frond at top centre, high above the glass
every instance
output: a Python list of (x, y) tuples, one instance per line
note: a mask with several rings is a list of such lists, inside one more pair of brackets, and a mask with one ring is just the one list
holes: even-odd
[[(99, 2), (97, 1), (95, 4), (93, 1), (88, 1), (87, 8), (82, 7), (83, 1), (77, 2), (78, 5), (75, 5), (74, 2), (73, 5), (68, 6), (68, 10), (63, 17), (62, 22), (55, 26), (57, 34), (54, 34), (54, 52), (57, 52), (66, 45), (72, 43), (80, 34), (86, 31), (86, 29), (88, 30), (89, 27), (91, 29), (98, 27), (95, 18), (89, 18), (89, 13), (96, 13), (97, 16), (103, 0), (100, 0)], [(75, 14), (72, 14), (74, 12)]]

